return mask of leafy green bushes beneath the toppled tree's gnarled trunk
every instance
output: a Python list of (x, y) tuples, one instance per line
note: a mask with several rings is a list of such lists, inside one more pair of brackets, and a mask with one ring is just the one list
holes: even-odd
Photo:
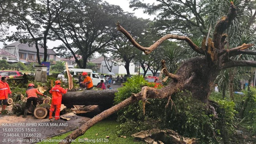
[[(115, 102), (119, 103), (132, 93), (138, 93), (147, 84), (139, 76), (129, 79), (125, 86), (119, 89)], [(148, 99), (150, 104), (146, 103), (145, 115), (141, 101), (118, 111), (118, 121), (123, 122), (118, 133), (132, 134), (141, 130), (167, 128), (187, 137), (196, 137), (200, 139), (200, 143), (220, 143), (222, 137), (227, 140), (233, 132), (231, 124), (236, 113), (233, 102), (218, 101), (219, 119), (214, 120), (208, 106), (193, 99), (188, 91), (173, 95), (172, 101), (173, 104), (170, 102), (169, 107), (165, 108), (167, 99)]]

